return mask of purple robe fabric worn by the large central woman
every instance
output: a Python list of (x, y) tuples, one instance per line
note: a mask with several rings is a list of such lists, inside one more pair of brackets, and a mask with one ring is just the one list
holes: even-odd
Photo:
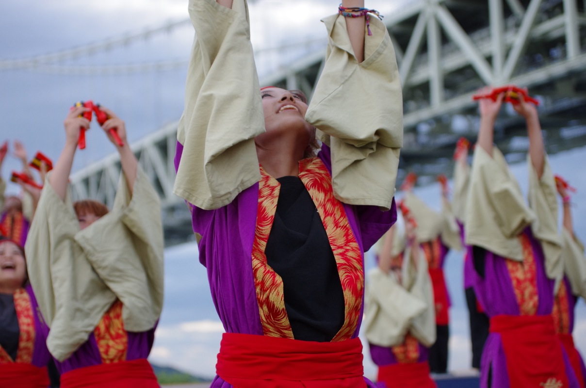
[[(182, 152), (183, 146), (178, 142), (175, 169)], [(331, 173), (330, 151), (325, 144), (318, 157)], [(387, 212), (377, 206), (343, 206), (362, 252), (369, 250), (397, 219), (394, 200)], [(207, 268), (212, 300), (224, 329), (229, 333), (263, 335), (252, 266), (257, 207), (258, 183), (255, 183), (229, 205), (215, 210), (193, 206), (192, 210), (193, 232), (202, 236), (198, 244), (199, 260)], [(364, 254), (362, 256), (364, 268)], [(363, 309), (364, 295), (352, 338), (358, 335)], [(368, 380), (367, 383), (374, 387)], [(216, 376), (212, 387), (228, 388), (231, 385)]]

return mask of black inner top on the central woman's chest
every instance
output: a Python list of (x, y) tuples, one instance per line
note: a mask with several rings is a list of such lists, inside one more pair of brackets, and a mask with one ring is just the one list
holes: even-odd
[(277, 181), (281, 190), (265, 249), (267, 263), (282, 278), (294, 338), (329, 342), (342, 328), (345, 306), (328, 234), (301, 179)]

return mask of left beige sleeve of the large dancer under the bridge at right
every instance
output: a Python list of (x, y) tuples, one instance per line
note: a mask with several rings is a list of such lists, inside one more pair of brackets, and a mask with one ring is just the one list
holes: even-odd
[(466, 244), (513, 260), (523, 260), (517, 235), (535, 220), (505, 157), (476, 147), (465, 210)]

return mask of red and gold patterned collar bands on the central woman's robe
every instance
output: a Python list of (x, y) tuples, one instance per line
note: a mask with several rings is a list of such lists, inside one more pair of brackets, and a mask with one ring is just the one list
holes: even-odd
[[(360, 316), (364, 290), (362, 252), (348, 222), (345, 209), (333, 196), (331, 176), (319, 158), (299, 162), (299, 178), (318, 209), (336, 259), (345, 303), (345, 320), (332, 342), (352, 338)], [(263, 333), (267, 336), (294, 338), (285, 311), (281, 277), (267, 264), (264, 253), (277, 210), (280, 183), (261, 168), (258, 183), (257, 226), (252, 261)]]

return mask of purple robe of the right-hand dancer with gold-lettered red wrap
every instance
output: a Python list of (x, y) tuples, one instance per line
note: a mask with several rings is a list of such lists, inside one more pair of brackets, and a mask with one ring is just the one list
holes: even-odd
[[(536, 283), (539, 304), (536, 315), (550, 315), (553, 309), (554, 281), (546, 275), (541, 243), (533, 237), (530, 227), (524, 231), (531, 241), (534, 261), (536, 264)], [(469, 246), (469, 257), (473, 257), (473, 247)], [(484, 277), (475, 275), (473, 283), (478, 301), (485, 310), (485, 314), (492, 318), (496, 315), (519, 316), (519, 304), (513, 290), (512, 280), (507, 269), (506, 259), (487, 250), (482, 250), (484, 258)], [(475, 261), (478, 257), (475, 257)], [(472, 260), (471, 260), (472, 261)], [(478, 260), (482, 262), (482, 260)], [(565, 370), (571, 370), (570, 362), (564, 353)], [(492, 387), (515, 388), (509, 385), (506, 356), (503, 350), (499, 333), (489, 333), (484, 346), (481, 360), (481, 388), (488, 388), (489, 370), (492, 372)], [(570, 387), (578, 387), (573, 373), (568, 373)]]

